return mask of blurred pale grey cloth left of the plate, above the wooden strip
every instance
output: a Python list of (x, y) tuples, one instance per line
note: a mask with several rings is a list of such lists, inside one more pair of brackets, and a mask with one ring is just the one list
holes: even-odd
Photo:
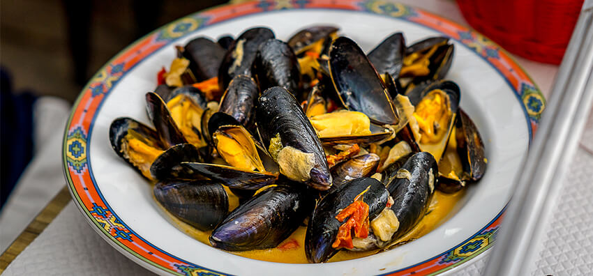
[(33, 145), (36, 157), (21, 175), (0, 213), (0, 252), (13, 243), (66, 184), (61, 162), (61, 141), (70, 105), (55, 97), (39, 98), (33, 105)]

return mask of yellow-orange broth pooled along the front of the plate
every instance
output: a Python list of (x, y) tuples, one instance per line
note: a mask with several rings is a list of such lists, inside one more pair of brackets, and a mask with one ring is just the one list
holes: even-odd
[[(229, 192), (228, 189), (226, 189)], [(238, 204), (237, 197), (235, 197), (232, 193), (230, 194), (229, 201), (232, 202), (230, 204), (230, 208), (235, 208)], [(439, 227), (444, 221), (449, 219), (451, 215), (451, 211), (457, 204), (457, 202), (463, 197), (465, 194), (465, 189), (456, 192), (454, 194), (444, 194), (440, 191), (436, 191), (432, 201), (430, 201), (430, 206), (428, 207), (427, 214), (422, 218), (422, 220), (405, 236), (396, 240), (392, 243), (392, 245), (396, 245), (398, 243), (404, 243), (406, 241), (415, 240), (416, 238), (420, 238), (421, 236), (426, 235), (426, 233), (433, 231), (433, 229)], [(160, 206), (160, 205), (159, 205)], [(200, 240), (200, 242), (210, 245), (208, 237), (210, 236), (211, 231), (200, 231), (191, 227), (189, 224), (182, 222), (181, 220), (177, 219), (170, 213), (168, 213), (165, 208), (161, 206), (162, 210), (167, 213), (170, 219), (174, 222), (177, 228), (183, 233), (195, 238), (196, 240)], [(276, 263), (308, 263), (307, 257), (305, 256), (304, 250), (304, 240), (305, 240), (305, 233), (306, 227), (301, 226), (299, 229), (296, 229), (290, 237), (280, 243), (278, 247), (271, 248), (267, 250), (250, 250), (246, 252), (230, 252), (232, 254), (238, 256), (244, 256), (250, 259), (256, 259), (261, 261), (273, 261)], [(357, 259), (363, 256), (370, 256), (376, 254), (380, 250), (371, 250), (368, 252), (351, 252), (348, 250), (340, 250), (338, 254), (333, 256), (329, 259), (329, 262), (333, 261), (346, 261), (350, 259)]]

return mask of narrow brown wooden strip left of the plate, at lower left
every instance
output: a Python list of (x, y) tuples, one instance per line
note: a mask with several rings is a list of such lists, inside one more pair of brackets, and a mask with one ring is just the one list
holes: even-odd
[(18, 254), (20, 254), (52, 220), (61, 212), (61, 210), (70, 202), (70, 192), (68, 187), (64, 186), (62, 190), (50, 201), (50, 203), (41, 210), (18, 238), (0, 255), (0, 274), (8, 267)]

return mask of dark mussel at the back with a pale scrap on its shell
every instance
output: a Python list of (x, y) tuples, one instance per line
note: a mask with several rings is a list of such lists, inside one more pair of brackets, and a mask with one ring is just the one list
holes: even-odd
[(237, 75), (251, 74), (251, 66), (257, 54), (257, 49), (264, 41), (274, 38), (271, 29), (256, 27), (248, 29), (234, 40), (225, 53), (218, 69), (218, 86), (226, 90), (229, 82)]

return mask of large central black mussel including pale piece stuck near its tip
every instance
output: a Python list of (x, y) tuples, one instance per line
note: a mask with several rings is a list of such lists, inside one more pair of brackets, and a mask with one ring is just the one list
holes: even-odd
[(278, 86), (264, 91), (255, 121), (262, 144), (281, 174), (317, 190), (329, 189), (331, 174), (321, 142), (290, 92)]

